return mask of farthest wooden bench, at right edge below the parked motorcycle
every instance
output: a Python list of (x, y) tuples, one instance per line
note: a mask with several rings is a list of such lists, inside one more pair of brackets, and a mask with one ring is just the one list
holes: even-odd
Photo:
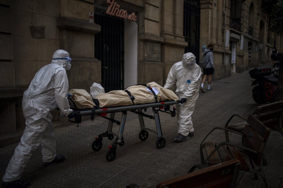
[[(283, 100), (273, 102), (267, 105), (261, 105), (256, 108), (253, 115), (257, 117), (263, 124), (265, 124), (271, 130), (279, 131), (283, 136), (282, 116), (283, 116)], [(245, 121), (229, 125), (230, 121), (234, 117), (239, 117)], [(227, 121), (224, 128), (234, 130), (237, 132), (243, 132), (244, 126), (247, 124), (247, 119), (239, 114), (233, 114)], [(225, 131), (226, 141), (229, 142), (228, 131)]]

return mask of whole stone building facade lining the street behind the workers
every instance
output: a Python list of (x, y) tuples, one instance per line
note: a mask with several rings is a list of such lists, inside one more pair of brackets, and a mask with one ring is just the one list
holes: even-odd
[[(57, 49), (69, 52), (69, 89), (156, 82), (186, 52), (214, 47), (214, 80), (269, 62), (282, 36), (254, 0), (0, 0), (0, 147), (25, 128), (23, 92)], [(68, 124), (59, 111), (53, 122)]]

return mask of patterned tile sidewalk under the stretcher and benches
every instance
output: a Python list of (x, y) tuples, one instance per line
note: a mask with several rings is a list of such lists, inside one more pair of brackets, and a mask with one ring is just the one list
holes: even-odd
[[(251, 78), (248, 71), (214, 81), (212, 92), (201, 93), (192, 115), (195, 136), (182, 143), (175, 143), (172, 137), (177, 135), (176, 117), (159, 113), (163, 137), (166, 145), (157, 149), (157, 135), (149, 132), (145, 141), (138, 138), (138, 116), (128, 113), (124, 129), (125, 145), (117, 147), (117, 156), (107, 162), (105, 155), (108, 145), (114, 140), (103, 138), (100, 151), (92, 150), (94, 137), (107, 130), (108, 121), (97, 117), (95, 121), (84, 121), (77, 127), (59, 127), (55, 129), (57, 153), (65, 153), (65, 162), (49, 167), (42, 164), (40, 148), (37, 149), (25, 168), (22, 178), (30, 179), (30, 187), (126, 187), (137, 183), (140, 187), (155, 187), (159, 182), (186, 174), (191, 166), (200, 163), (200, 142), (215, 126), (224, 127), (228, 118), (239, 113), (245, 117), (258, 106), (252, 99)], [(207, 83), (205, 83), (207, 89)], [(149, 114), (150, 109), (148, 109)], [(120, 114), (116, 115), (120, 121)], [(153, 119), (144, 117), (145, 126), (155, 130)], [(113, 132), (118, 125), (113, 125)], [(221, 141), (224, 134), (217, 132), (208, 138)], [(239, 137), (233, 141), (241, 142)], [(13, 144), (0, 148), (0, 176), (2, 177), (13, 155)], [(283, 187), (283, 138), (278, 132), (271, 132), (264, 154), (268, 165), (265, 167), (270, 187)], [(189, 185), (188, 185), (189, 187)], [(240, 172), (237, 188), (265, 187), (262, 179), (254, 180), (252, 174)]]

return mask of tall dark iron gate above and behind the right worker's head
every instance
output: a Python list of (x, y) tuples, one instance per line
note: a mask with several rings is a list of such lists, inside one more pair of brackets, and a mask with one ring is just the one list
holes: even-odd
[(185, 53), (191, 52), (199, 62), (200, 52), (200, 0), (184, 0), (184, 37), (188, 42)]

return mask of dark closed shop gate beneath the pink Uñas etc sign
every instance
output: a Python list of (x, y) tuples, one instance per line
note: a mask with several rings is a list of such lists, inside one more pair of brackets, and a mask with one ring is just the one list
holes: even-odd
[(101, 61), (101, 85), (105, 92), (124, 89), (124, 21), (100, 14), (94, 22), (101, 31), (94, 35), (94, 54)]

